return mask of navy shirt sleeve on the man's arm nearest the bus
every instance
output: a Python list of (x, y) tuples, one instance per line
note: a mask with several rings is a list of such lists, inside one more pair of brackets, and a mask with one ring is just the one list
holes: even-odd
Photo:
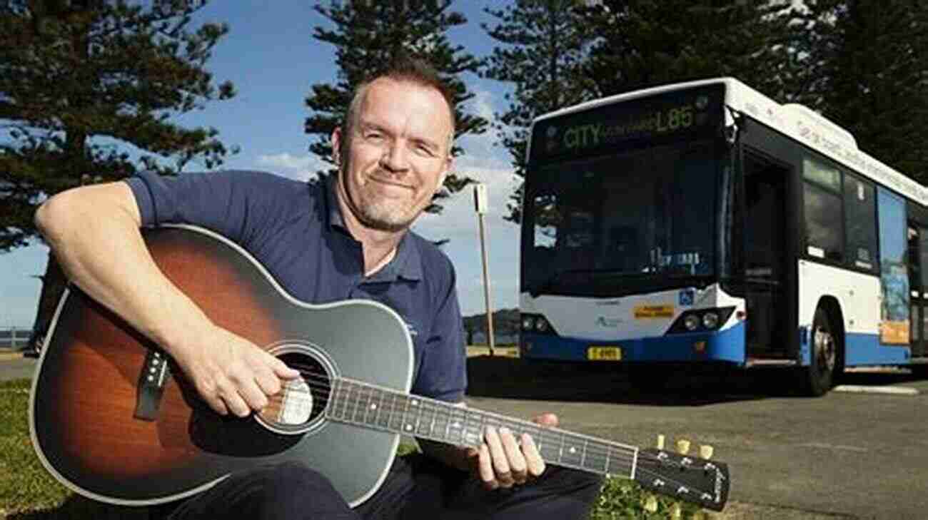
[(447, 261), (448, 284), (442, 290), (432, 319), (413, 393), (448, 402), (464, 400), (467, 389), (467, 345), (458, 306), (455, 273)]

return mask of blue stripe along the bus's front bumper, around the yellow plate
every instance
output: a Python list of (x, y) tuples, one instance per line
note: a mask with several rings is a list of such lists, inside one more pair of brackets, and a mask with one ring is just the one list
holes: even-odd
[[(589, 347), (621, 347), (622, 361), (730, 361), (743, 364), (744, 331), (744, 323), (738, 323), (720, 332), (614, 341), (522, 333), (522, 357), (586, 361), (586, 349)], [(697, 341), (706, 343), (702, 353), (693, 349), (693, 344)], [(532, 348), (525, 350), (526, 344), (531, 344)]]

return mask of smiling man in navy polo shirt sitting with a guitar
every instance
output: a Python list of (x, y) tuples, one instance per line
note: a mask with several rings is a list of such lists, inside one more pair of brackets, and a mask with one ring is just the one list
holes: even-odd
[[(159, 272), (140, 226), (212, 229), (303, 301), (380, 300), (415, 331), (413, 393), (463, 405), (454, 270), (409, 231), (451, 168), (454, 129), (452, 94), (428, 66), (404, 60), (356, 89), (344, 126), (331, 136), (336, 178), (300, 184), (251, 172), (142, 174), (52, 197), (36, 223), (72, 282), (161, 345), (216, 412), (246, 417), (299, 374), (214, 325)], [(537, 422), (556, 425), (557, 418)], [(230, 476), (172, 518), (581, 517), (599, 492), (596, 477), (546, 471), (532, 438), (505, 429), (487, 428), (479, 449), (420, 445), (425, 455), (398, 459), (355, 510), (324, 476), (289, 463)]]

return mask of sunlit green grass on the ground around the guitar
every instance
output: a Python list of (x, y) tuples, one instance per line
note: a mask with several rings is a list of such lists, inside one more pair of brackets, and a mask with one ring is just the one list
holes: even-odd
[[(100, 504), (75, 496), (45, 472), (32, 450), (27, 411), (30, 383), (0, 382), (0, 520), (101, 520), (146, 519), (139, 508)], [(400, 452), (414, 450), (404, 444)], [(637, 484), (609, 479), (599, 495), (590, 520), (666, 520), (672, 501), (657, 501), (657, 511), (643, 507), (645, 496)], [(681, 518), (693, 518), (696, 509), (683, 506)], [(697, 516), (698, 517), (698, 516)], [(154, 520), (152, 515), (151, 520)]]

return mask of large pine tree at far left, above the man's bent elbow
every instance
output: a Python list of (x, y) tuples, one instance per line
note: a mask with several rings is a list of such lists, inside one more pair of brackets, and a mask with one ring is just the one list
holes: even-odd
[[(136, 168), (207, 168), (229, 152), (213, 128), (171, 122), (233, 96), (204, 70), (225, 24), (187, 28), (207, 0), (8, 0), (0, 3), (0, 252), (38, 236), (45, 197), (122, 179)], [(131, 145), (126, 146), (126, 145)], [(132, 159), (127, 149), (140, 156)], [(35, 328), (45, 328), (64, 288), (49, 255)]]

